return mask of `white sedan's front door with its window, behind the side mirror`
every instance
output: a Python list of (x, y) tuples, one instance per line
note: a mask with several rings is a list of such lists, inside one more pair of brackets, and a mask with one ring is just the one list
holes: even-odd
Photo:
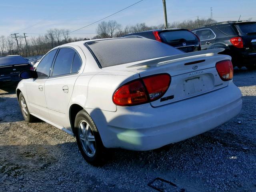
[(36, 68), (38, 78), (26, 82), (26, 91), (30, 112), (42, 118), (49, 119), (46, 99), (44, 95), (44, 84), (50, 75), (50, 69), (58, 49), (48, 52)]

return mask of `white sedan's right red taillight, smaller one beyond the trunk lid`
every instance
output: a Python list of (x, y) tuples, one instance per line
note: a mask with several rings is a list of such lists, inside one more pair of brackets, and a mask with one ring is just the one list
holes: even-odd
[(230, 60), (224, 60), (216, 63), (216, 69), (223, 81), (228, 81), (233, 78), (233, 65)]

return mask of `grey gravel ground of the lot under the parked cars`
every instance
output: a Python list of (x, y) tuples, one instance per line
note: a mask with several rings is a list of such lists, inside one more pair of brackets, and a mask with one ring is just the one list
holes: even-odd
[(176, 192), (255, 192), (256, 71), (235, 69), (234, 83), (243, 94), (243, 107), (235, 118), (157, 150), (112, 150), (102, 167), (84, 161), (72, 136), (40, 120), (24, 122), (15, 87), (2, 88), (0, 192), (157, 191), (152, 187)]

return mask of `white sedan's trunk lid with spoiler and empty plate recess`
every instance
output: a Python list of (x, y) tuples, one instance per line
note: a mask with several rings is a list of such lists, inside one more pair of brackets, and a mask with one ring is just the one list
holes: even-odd
[(150, 103), (153, 107), (158, 107), (227, 86), (228, 81), (222, 81), (215, 68), (216, 62), (231, 60), (230, 56), (217, 54), (221, 51), (223, 49), (168, 56), (130, 66), (119, 66), (115, 70), (137, 72), (141, 78), (161, 73), (170, 74), (171, 83), (164, 96)]

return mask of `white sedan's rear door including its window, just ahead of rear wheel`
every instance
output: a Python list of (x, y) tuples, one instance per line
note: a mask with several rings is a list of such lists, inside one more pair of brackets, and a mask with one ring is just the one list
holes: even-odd
[(57, 53), (51, 75), (45, 82), (48, 113), (51, 121), (58, 126), (69, 128), (68, 104), (81, 66), (78, 51), (72, 47), (62, 47)]

